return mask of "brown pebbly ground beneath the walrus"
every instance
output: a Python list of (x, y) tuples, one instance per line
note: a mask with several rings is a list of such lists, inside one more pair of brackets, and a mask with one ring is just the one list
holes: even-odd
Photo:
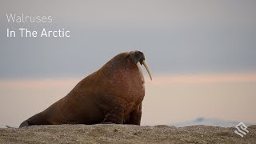
[(256, 143), (256, 126), (241, 138), (216, 126), (62, 125), (0, 129), (0, 143)]

